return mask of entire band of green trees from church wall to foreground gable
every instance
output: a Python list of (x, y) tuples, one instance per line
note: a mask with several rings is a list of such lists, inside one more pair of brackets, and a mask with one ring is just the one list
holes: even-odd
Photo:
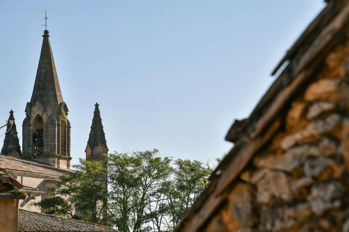
[(63, 175), (54, 194), (34, 205), (124, 232), (173, 231), (212, 172), (201, 161), (173, 160), (156, 149), (114, 152), (105, 163), (81, 159), (73, 167), (76, 173)]

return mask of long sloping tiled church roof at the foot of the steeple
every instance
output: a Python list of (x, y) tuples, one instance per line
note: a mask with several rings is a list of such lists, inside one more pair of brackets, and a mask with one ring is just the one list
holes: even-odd
[(6, 170), (26, 171), (29, 173), (38, 173), (52, 176), (61, 176), (65, 173), (74, 172), (73, 170), (54, 168), (37, 161), (3, 155), (0, 155), (0, 166), (5, 168)]

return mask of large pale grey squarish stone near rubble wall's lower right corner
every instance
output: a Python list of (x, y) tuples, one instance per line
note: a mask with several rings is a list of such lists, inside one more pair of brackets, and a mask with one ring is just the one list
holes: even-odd
[(319, 183), (313, 185), (307, 197), (312, 211), (320, 216), (326, 210), (341, 206), (343, 186), (339, 182)]

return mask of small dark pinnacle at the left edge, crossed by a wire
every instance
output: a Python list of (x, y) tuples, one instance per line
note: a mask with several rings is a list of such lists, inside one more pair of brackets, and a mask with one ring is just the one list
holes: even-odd
[(20, 157), (22, 155), (22, 151), (17, 136), (18, 133), (16, 129), (15, 118), (13, 117), (13, 112), (13, 110), (9, 112), (10, 117), (8, 118), (8, 120), (13, 120), (13, 125), (12, 127), (10, 124), (7, 125), (6, 131), (8, 132), (5, 134), (5, 139), (3, 141), (3, 146), (1, 149), (1, 155)]

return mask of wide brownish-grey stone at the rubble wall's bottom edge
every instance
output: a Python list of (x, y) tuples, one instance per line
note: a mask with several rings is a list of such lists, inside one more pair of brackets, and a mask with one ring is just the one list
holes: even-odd
[(283, 231), (296, 229), (311, 216), (308, 203), (294, 207), (262, 207), (259, 224), (260, 231)]

